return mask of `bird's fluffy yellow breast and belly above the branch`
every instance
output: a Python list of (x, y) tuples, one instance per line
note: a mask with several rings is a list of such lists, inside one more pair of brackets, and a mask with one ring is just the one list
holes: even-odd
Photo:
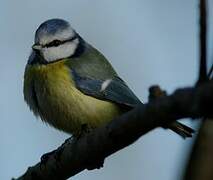
[(24, 96), (35, 114), (74, 135), (79, 134), (82, 125), (95, 128), (121, 114), (116, 104), (79, 91), (64, 62), (26, 67)]

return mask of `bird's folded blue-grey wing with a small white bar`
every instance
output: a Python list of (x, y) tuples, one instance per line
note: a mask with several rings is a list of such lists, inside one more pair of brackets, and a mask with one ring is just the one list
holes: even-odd
[(100, 80), (82, 77), (75, 71), (72, 71), (72, 76), (76, 83), (76, 87), (89, 96), (130, 107), (135, 107), (137, 104), (141, 103), (126, 83), (118, 76), (111, 79)]

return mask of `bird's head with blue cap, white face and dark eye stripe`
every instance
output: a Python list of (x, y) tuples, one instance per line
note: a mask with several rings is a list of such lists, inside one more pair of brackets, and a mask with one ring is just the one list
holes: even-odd
[(43, 22), (36, 30), (34, 41), (33, 51), (39, 53), (47, 63), (77, 56), (84, 46), (83, 39), (62, 19)]

